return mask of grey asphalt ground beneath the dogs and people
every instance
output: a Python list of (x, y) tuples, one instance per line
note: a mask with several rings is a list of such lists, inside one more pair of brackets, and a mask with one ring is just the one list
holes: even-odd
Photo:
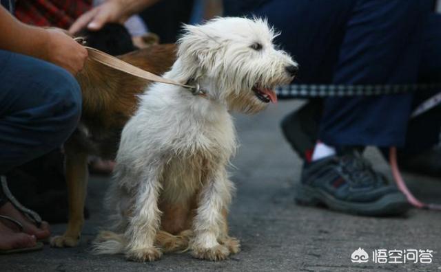
[[(301, 161), (280, 133), (279, 122), (299, 102), (279, 102), (255, 116), (236, 116), (240, 148), (233, 163), (237, 194), (229, 216), (232, 236), (242, 251), (229, 260), (196, 260), (189, 253), (165, 255), (152, 263), (127, 262), (123, 256), (88, 252), (102, 222), (105, 178), (92, 177), (87, 220), (81, 246), (0, 256), (3, 271), (440, 271), (441, 212), (413, 209), (400, 218), (369, 218), (294, 204), (292, 184), (298, 182)], [(374, 149), (367, 151), (376, 168), (389, 168)], [(441, 181), (405, 174), (418, 196), (441, 202)], [(65, 225), (53, 225), (61, 234)], [(431, 264), (358, 264), (351, 253), (375, 249), (430, 249)]]

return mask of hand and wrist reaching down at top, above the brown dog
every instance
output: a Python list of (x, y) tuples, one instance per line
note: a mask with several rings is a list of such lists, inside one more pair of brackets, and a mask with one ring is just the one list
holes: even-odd
[(105, 23), (124, 23), (130, 16), (157, 1), (159, 0), (107, 0), (76, 19), (69, 32), (75, 34), (85, 26), (89, 30), (99, 30)]

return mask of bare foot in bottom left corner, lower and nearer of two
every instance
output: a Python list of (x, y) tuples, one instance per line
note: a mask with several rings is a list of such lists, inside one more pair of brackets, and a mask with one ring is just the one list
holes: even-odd
[(37, 238), (23, 232), (15, 232), (0, 222), (0, 249), (24, 249), (26, 247), (35, 247)]

